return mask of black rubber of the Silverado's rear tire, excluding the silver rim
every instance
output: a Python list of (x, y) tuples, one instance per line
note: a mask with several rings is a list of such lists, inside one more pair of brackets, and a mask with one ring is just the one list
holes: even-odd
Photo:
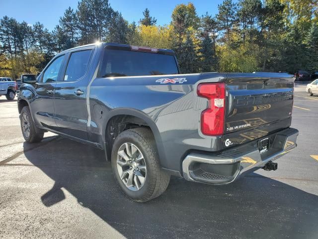
[[(124, 143), (132, 143), (143, 154), (147, 175), (143, 186), (137, 190), (130, 190), (119, 176), (117, 169), (117, 153)], [(111, 164), (116, 182), (121, 190), (136, 202), (147, 202), (160, 196), (167, 188), (170, 175), (164, 172), (159, 164), (159, 154), (152, 131), (149, 128), (134, 128), (123, 131), (116, 138), (111, 154)]]

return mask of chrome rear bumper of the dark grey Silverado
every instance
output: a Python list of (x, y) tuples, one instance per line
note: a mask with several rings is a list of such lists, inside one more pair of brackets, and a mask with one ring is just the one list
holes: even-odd
[(228, 149), (220, 154), (190, 153), (182, 162), (183, 177), (189, 181), (228, 184), (247, 172), (263, 167), (294, 149), (299, 132), (287, 128), (269, 135), (270, 148), (260, 153), (257, 141)]

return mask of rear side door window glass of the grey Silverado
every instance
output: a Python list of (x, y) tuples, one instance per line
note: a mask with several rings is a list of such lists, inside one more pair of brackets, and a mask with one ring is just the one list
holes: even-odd
[(92, 49), (73, 52), (71, 54), (64, 81), (77, 81), (87, 71)]

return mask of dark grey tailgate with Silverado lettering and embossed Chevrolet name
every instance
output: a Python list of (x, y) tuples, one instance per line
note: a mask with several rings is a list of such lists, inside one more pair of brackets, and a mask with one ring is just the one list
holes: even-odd
[(253, 74), (229, 74), (224, 148), (289, 127), (293, 98), (294, 78), (291, 75), (264, 73), (264, 77), (255, 78)]

